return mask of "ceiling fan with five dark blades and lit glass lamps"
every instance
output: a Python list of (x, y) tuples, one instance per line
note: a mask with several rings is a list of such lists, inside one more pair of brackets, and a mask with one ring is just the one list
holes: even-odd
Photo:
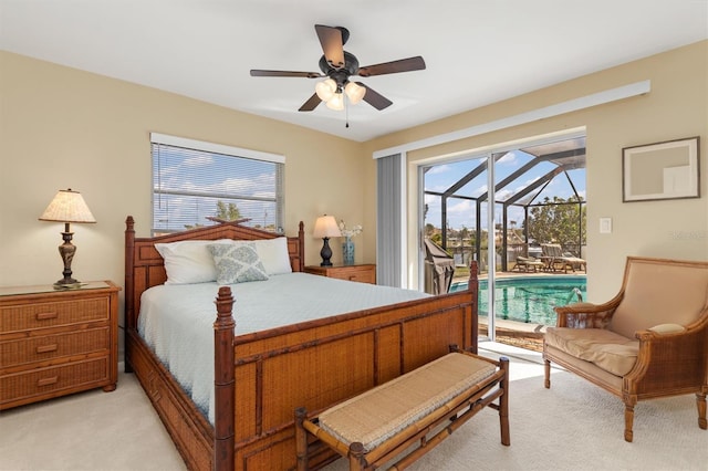
[(321, 102), (325, 102), (332, 109), (343, 109), (344, 95), (354, 105), (364, 100), (376, 109), (384, 109), (393, 104), (391, 100), (361, 82), (351, 81), (350, 77), (353, 75), (369, 77), (425, 69), (425, 61), (419, 55), (360, 67), (356, 56), (343, 49), (350, 38), (350, 31), (346, 28), (315, 24), (314, 29), (324, 51), (320, 59), (322, 73), (251, 70), (251, 76), (254, 77), (327, 77), (315, 85), (315, 93), (298, 109), (300, 112), (311, 112)]

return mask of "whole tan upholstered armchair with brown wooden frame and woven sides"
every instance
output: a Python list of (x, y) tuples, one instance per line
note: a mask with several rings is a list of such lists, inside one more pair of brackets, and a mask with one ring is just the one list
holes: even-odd
[(626, 441), (637, 401), (665, 396), (695, 394), (707, 428), (708, 262), (629, 257), (614, 299), (555, 312), (543, 339), (546, 388), (553, 362), (618, 396)]

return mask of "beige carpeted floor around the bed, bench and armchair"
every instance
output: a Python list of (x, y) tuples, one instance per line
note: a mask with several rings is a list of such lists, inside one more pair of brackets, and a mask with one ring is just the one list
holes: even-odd
[[(492, 409), (480, 411), (412, 470), (707, 470), (708, 431), (695, 396), (641, 402), (634, 442), (623, 439), (620, 399), (565, 371), (543, 388), (540, 354), (481, 344), (510, 356), (511, 447)], [(128, 433), (127, 431), (131, 430)], [(0, 412), (2, 470), (184, 470), (133, 375), (114, 393), (88, 391)], [(327, 467), (346, 469), (343, 460)]]

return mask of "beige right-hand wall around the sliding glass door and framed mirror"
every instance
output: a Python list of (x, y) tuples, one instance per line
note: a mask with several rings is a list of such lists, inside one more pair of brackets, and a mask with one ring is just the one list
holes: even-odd
[[(417, 264), (418, 160), (450, 153), (585, 127), (587, 136), (587, 270), (589, 297), (616, 294), (627, 255), (708, 260), (708, 41), (610, 69), (556, 86), (473, 109), (425, 126), (366, 143), (367, 153), (402, 146), (561, 102), (650, 80), (642, 96), (460, 139), (408, 153), (409, 273)], [(622, 202), (622, 148), (700, 136), (701, 198)], [(367, 178), (375, 179), (369, 163)], [(373, 205), (373, 197), (367, 205)], [(371, 212), (366, 221), (374, 220)], [(600, 233), (600, 218), (612, 218), (611, 234)], [(416, 281), (412, 280), (413, 285)]]

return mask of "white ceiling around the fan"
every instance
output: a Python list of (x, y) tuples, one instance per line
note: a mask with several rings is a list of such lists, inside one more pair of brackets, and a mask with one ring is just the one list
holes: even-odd
[[(315, 23), (347, 28), (362, 66), (427, 69), (362, 77), (394, 104), (350, 107), (348, 128), (324, 104), (298, 112), (316, 80), (249, 71), (320, 72)], [(706, 38), (708, 0), (0, 0), (2, 50), (353, 140)]]

